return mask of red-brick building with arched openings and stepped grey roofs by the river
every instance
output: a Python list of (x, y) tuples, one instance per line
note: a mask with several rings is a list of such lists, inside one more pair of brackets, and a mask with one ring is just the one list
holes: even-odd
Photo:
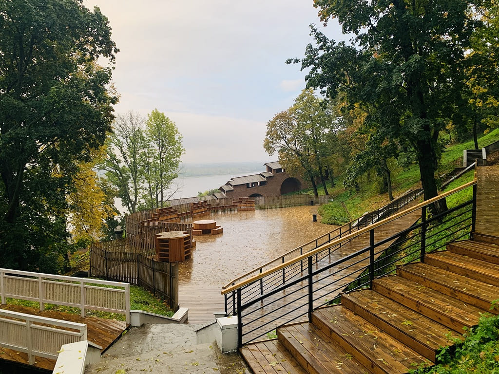
[(291, 177), (278, 162), (264, 164), (266, 171), (251, 176), (232, 178), (215, 193), (217, 198), (279, 196), (284, 193), (307, 188), (308, 185), (299, 177)]

